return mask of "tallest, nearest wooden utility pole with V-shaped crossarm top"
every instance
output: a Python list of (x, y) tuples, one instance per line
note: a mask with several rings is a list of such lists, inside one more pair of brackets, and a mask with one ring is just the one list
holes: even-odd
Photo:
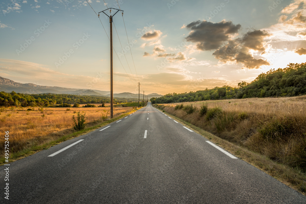
[[(112, 9), (114, 8), (109, 8), (109, 9), (105, 9), (109, 10), (110, 13), (112, 11)], [(114, 9), (115, 11), (117, 10), (116, 13), (118, 13), (118, 11), (122, 11), (119, 9)], [(101, 11), (104, 13), (104, 11)], [(100, 13), (98, 14), (98, 17), (100, 18)], [(115, 14), (116, 14), (115, 13)], [(107, 15), (106, 13), (104, 13), (106, 16), (108, 16), (110, 18), (110, 118), (114, 117), (114, 95), (113, 95), (113, 16), (115, 15)], [(122, 15), (123, 15), (123, 11), (122, 11)]]

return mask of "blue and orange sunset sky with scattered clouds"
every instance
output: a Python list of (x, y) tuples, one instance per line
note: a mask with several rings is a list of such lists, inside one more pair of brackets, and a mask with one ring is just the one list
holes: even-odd
[[(0, 76), (114, 93), (184, 93), (306, 62), (306, 0), (4, 0)], [(92, 8), (91, 8), (92, 7)], [(113, 8), (106, 10), (108, 8)], [(106, 14), (100, 13), (103, 10)]]

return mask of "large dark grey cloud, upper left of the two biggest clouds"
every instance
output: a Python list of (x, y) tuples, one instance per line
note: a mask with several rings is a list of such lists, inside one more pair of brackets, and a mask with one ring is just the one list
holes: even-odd
[(238, 33), (241, 25), (225, 20), (219, 23), (198, 20), (188, 24), (186, 28), (191, 30), (186, 40), (196, 43), (197, 49), (204, 51), (221, 47), (224, 42), (230, 40), (230, 35)]

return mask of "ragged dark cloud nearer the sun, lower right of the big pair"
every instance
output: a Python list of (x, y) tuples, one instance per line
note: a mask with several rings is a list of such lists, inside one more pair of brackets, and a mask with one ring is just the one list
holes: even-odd
[(213, 55), (226, 63), (228, 61), (241, 62), (246, 68), (258, 69), (262, 65), (270, 65), (263, 59), (255, 59), (250, 53), (250, 49), (265, 52), (264, 38), (270, 36), (265, 31), (255, 30), (246, 33), (242, 38), (230, 40), (227, 45), (217, 49)]

